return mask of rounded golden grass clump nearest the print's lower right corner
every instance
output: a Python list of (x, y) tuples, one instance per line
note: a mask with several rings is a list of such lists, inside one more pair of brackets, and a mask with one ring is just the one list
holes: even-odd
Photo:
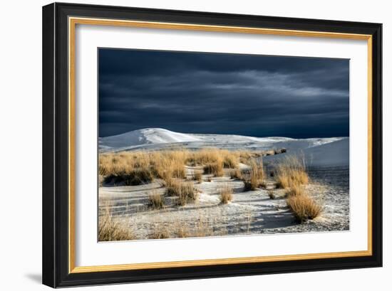
[(321, 213), (321, 206), (307, 195), (289, 196), (286, 201), (299, 223), (314, 219)]

